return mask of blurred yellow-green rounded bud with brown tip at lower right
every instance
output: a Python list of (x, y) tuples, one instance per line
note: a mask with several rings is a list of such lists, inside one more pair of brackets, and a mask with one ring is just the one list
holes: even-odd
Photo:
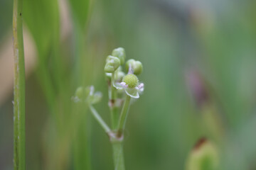
[(215, 170), (218, 169), (218, 164), (218, 151), (215, 145), (202, 138), (191, 151), (186, 170)]

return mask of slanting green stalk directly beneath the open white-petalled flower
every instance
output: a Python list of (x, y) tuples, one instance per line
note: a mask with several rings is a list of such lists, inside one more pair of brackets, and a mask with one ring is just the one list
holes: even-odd
[(125, 127), (125, 122), (127, 120), (127, 115), (129, 111), (129, 103), (131, 101), (131, 97), (127, 95), (126, 100), (124, 101), (124, 106), (122, 108), (122, 112), (119, 118), (119, 123), (117, 126), (117, 137), (121, 137), (123, 135), (124, 127)]

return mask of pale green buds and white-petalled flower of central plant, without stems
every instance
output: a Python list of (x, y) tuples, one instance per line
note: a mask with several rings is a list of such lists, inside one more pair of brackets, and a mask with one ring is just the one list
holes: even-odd
[[(144, 84), (139, 83), (137, 75), (142, 73), (142, 62), (134, 59), (128, 60), (125, 64), (124, 48), (118, 47), (112, 51), (111, 55), (107, 56), (105, 64), (105, 74), (107, 79), (111, 81), (111, 86), (118, 89), (119, 92), (125, 91), (132, 98), (139, 98), (139, 94), (144, 91)], [(127, 71), (127, 74), (122, 72), (122, 64)], [(93, 86), (78, 87), (73, 96), (75, 102), (87, 102), (90, 104), (97, 103), (102, 98), (100, 92), (94, 91)]]

